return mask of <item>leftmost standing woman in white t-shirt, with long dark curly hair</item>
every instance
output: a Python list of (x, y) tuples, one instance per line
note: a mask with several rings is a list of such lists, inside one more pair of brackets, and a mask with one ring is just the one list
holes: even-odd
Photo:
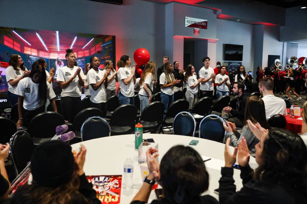
[(9, 66), (5, 69), (5, 77), (8, 82), (8, 100), (13, 107), (18, 102), (18, 95), (15, 94), (18, 82), (24, 77), (28, 77), (30, 70), (23, 66), (23, 60), (20, 55), (12, 55)]

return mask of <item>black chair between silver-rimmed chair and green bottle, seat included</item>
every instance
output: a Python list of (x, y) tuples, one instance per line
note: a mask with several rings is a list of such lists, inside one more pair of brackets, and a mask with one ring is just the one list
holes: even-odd
[(131, 134), (137, 114), (137, 108), (131, 104), (125, 104), (116, 108), (110, 121), (111, 136)]

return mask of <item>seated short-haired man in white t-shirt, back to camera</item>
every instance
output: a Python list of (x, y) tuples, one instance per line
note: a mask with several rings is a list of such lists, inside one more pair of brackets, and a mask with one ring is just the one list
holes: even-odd
[(262, 100), (265, 106), (266, 118), (270, 118), (274, 114), (281, 114), (286, 116), (286, 102), (279, 97), (274, 96), (273, 88), (274, 82), (271, 78), (265, 77), (259, 82), (259, 92), (263, 96)]

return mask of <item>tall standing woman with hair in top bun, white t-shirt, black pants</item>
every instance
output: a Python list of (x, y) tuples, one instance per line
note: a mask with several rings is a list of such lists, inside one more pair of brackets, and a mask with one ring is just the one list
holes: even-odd
[(73, 122), (76, 114), (81, 109), (81, 87), (84, 86), (83, 71), (74, 66), (76, 56), (72, 49), (66, 50), (67, 66), (59, 69), (56, 81), (60, 83), (61, 109), (65, 120)]

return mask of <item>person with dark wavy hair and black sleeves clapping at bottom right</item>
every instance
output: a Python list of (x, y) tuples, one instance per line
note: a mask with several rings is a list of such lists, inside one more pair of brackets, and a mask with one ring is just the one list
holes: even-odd
[[(253, 170), (248, 162), (250, 154), (244, 137), (230, 151), (230, 138), (225, 146), (225, 167), (221, 169), (219, 202), (221, 204), (287, 203), (303, 204), (306, 200), (306, 146), (296, 134), (274, 128), (265, 130), (257, 123), (249, 124), (255, 135), (261, 135), (256, 145), (256, 162)], [(243, 187), (236, 192), (232, 165), (236, 162), (241, 169)]]

